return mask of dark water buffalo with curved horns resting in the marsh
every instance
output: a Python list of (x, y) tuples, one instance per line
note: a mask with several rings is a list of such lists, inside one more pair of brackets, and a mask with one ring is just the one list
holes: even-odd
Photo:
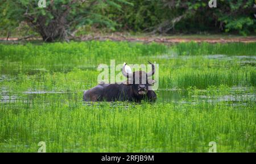
[[(150, 62), (149, 62), (150, 63)], [(151, 63), (150, 63), (151, 64)], [(148, 87), (154, 83), (154, 80), (148, 79), (155, 73), (155, 66), (151, 64), (152, 70), (146, 73), (142, 70), (127, 73), (125, 70), (126, 64), (123, 65), (122, 74), (127, 77), (127, 81), (121, 84), (105, 84), (101, 83), (93, 87), (92, 89), (84, 92), (85, 101), (130, 101), (130, 102), (141, 102), (141, 100), (148, 100), (155, 102), (156, 94), (152, 90), (148, 90)], [(143, 78), (145, 78), (143, 80)], [(137, 80), (136, 80), (137, 79)], [(139, 82), (138, 82), (139, 79)], [(135, 82), (137, 81), (137, 82)], [(146, 81), (146, 82), (143, 82)]]

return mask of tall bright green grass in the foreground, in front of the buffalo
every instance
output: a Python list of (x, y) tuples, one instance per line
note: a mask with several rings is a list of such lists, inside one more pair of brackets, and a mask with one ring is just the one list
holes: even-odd
[(255, 108), (44, 100), (1, 107), (1, 152), (36, 152), (39, 141), (47, 152), (208, 152), (210, 141), (218, 152), (255, 152)]

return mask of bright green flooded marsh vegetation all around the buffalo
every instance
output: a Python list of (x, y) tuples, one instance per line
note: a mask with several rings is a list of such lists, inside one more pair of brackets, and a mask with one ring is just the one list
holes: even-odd
[[(0, 152), (256, 152), (255, 47), (0, 44)], [(159, 64), (157, 102), (82, 102), (113, 59)]]

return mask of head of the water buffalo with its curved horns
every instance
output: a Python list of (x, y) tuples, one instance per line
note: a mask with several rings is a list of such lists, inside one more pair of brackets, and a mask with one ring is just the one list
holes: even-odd
[[(149, 61), (148, 61), (149, 62)], [(151, 62), (149, 62), (151, 64)], [(131, 85), (135, 95), (144, 95), (148, 92), (148, 86), (151, 86), (155, 81), (148, 79), (155, 73), (155, 66), (151, 64), (151, 72), (144, 72), (142, 70), (133, 73), (127, 73), (125, 70), (126, 63), (123, 65), (122, 74), (127, 77), (126, 85)]]

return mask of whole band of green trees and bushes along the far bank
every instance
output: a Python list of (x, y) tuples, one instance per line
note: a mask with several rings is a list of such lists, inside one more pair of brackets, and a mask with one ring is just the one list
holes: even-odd
[[(101, 0), (47, 1), (4, 0), (0, 2), (1, 35), (18, 30), (38, 32), (44, 40), (67, 40), (93, 28), (107, 31), (151, 33), (233, 32), (255, 33), (256, 5), (253, 0)], [(25, 22), (25, 23), (24, 23)], [(89, 28), (86, 28), (89, 27)], [(24, 30), (23, 30), (24, 31)]]

